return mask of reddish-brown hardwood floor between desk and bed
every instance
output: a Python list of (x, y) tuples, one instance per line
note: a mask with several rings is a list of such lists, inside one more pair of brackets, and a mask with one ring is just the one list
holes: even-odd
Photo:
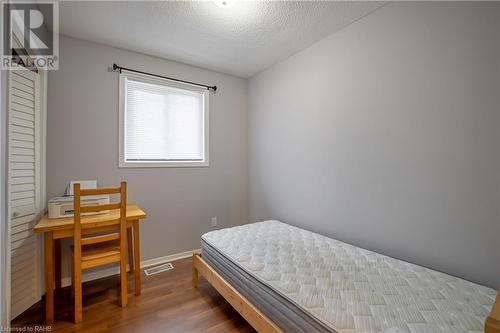
[[(83, 322), (73, 323), (69, 288), (56, 292), (56, 323), (51, 332), (255, 332), (205, 279), (191, 286), (191, 258), (173, 262), (174, 269), (143, 274), (142, 295), (133, 295), (129, 277), (129, 304), (119, 305), (119, 277), (85, 283)], [(44, 325), (43, 300), (17, 317), (15, 327)]]

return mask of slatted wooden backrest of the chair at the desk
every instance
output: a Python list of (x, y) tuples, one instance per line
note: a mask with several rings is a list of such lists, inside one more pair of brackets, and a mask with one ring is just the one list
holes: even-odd
[[(98, 189), (81, 189), (80, 184), (75, 183), (73, 187), (74, 201), (74, 251), (75, 259), (81, 257), (81, 248), (83, 245), (98, 244), (115, 239), (120, 239), (120, 251), (124, 251), (127, 232), (127, 182), (121, 182), (120, 187), (110, 187), (110, 188), (98, 188)], [(90, 195), (112, 195), (119, 194), (120, 201), (106, 204), (106, 205), (92, 205), (92, 206), (82, 206), (81, 197)], [(110, 210), (119, 210), (119, 215), (114, 215), (113, 218), (109, 220), (100, 220), (99, 224), (83, 224), (82, 226), (82, 214), (92, 213), (92, 212), (103, 212)], [(105, 225), (108, 229), (108, 233), (102, 233), (102, 226)], [(112, 228), (115, 226), (115, 228)], [(82, 237), (82, 228), (85, 230), (85, 234), (89, 235)], [(97, 236), (91, 236), (93, 230), (94, 234)], [(109, 229), (114, 231), (109, 233)]]

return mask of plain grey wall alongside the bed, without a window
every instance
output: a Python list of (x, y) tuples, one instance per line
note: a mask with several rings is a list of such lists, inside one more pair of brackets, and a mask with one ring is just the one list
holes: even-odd
[(249, 213), (500, 287), (498, 3), (389, 3), (249, 82)]

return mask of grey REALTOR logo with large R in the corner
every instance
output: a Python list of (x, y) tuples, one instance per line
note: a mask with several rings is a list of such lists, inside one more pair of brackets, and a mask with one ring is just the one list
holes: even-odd
[(59, 68), (57, 2), (2, 3), (2, 22), (2, 69)]

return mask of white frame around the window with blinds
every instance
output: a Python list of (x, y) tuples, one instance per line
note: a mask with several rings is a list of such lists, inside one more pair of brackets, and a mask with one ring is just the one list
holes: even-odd
[[(126, 112), (126, 80), (131, 79), (134, 81), (166, 86), (170, 88), (184, 89), (203, 94), (203, 152), (204, 159), (201, 161), (184, 161), (184, 160), (171, 160), (171, 161), (127, 161), (125, 160), (125, 112)], [(196, 167), (209, 167), (209, 91), (206, 88), (198, 87), (188, 83), (181, 83), (162, 79), (155, 76), (140, 74), (122, 70), (119, 79), (119, 168), (196, 168)]]

